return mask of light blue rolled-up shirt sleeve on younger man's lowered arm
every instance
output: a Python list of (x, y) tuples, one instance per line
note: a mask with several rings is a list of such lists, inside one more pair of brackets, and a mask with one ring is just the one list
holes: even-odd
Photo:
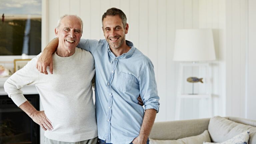
[(154, 66), (151, 61), (145, 64), (140, 75), (140, 96), (146, 109), (159, 112), (159, 96), (155, 80)]

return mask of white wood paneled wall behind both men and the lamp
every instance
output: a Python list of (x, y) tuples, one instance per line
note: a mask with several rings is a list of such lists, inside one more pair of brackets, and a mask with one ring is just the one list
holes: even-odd
[[(248, 0), (43, 0), (46, 1), (45, 41), (63, 14), (77, 14), (84, 22), (82, 38), (104, 39), (101, 16), (111, 7), (127, 16), (126, 39), (153, 62), (160, 96), (156, 121), (174, 120), (178, 62), (173, 62), (175, 30), (212, 28), (217, 61), (212, 63), (214, 115), (245, 117), (245, 60)], [(47, 43), (43, 44), (44, 47)], [(189, 69), (190, 73), (198, 73)], [(204, 105), (183, 100), (181, 119), (197, 118)], [(202, 103), (202, 102), (201, 102)], [(249, 104), (248, 104), (249, 105)]]

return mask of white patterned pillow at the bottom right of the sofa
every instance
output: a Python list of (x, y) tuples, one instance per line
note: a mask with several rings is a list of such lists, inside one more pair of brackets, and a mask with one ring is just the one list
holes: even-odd
[(248, 143), (249, 143), (249, 132), (243, 132), (221, 143), (204, 142), (203, 144), (248, 144)]

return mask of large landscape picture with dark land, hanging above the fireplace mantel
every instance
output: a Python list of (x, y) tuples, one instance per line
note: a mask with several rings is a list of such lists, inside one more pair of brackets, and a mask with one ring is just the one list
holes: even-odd
[(41, 52), (42, 0), (0, 0), (0, 56)]

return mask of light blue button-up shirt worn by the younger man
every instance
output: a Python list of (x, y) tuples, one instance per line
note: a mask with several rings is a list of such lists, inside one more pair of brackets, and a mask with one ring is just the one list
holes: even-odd
[(81, 39), (78, 47), (90, 51), (95, 59), (95, 107), (98, 136), (106, 143), (129, 144), (138, 137), (144, 108), (159, 111), (154, 66), (132, 42), (131, 49), (116, 57), (106, 40)]

